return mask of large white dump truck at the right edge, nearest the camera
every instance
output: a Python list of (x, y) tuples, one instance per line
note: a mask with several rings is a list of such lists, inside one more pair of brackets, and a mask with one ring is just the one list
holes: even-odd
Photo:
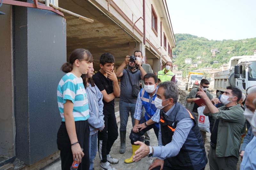
[(256, 55), (233, 56), (228, 70), (214, 73), (214, 89), (219, 97), (227, 86), (238, 87), (244, 94), (246, 89), (256, 85)]

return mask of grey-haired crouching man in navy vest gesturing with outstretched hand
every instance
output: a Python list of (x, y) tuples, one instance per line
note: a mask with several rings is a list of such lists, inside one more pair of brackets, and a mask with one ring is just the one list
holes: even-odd
[(207, 164), (203, 138), (195, 115), (177, 102), (178, 94), (173, 82), (166, 81), (158, 85), (155, 99), (155, 106), (161, 109), (158, 146), (147, 146), (140, 141), (134, 143), (140, 145), (133, 156), (134, 161), (147, 155), (157, 158), (149, 170), (203, 170)]

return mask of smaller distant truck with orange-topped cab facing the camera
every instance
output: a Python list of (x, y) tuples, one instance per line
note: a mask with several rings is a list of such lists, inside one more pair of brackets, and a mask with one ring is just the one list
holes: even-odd
[(185, 89), (190, 92), (191, 89), (199, 87), (201, 80), (203, 79), (203, 73), (201, 72), (189, 72), (186, 77)]

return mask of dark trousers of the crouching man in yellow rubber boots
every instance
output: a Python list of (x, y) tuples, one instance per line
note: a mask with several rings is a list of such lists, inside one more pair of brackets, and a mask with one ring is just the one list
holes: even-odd
[[(140, 119), (139, 124), (145, 123), (145, 122), (147, 122), (147, 121), (146, 121), (145, 117), (143, 117), (142, 119)], [(159, 129), (155, 126), (155, 123), (154, 123), (154, 124), (148, 125), (145, 129), (142, 129), (141, 131), (139, 131), (139, 133), (134, 133), (131, 130), (131, 134), (130, 134), (131, 144), (134, 144), (134, 142), (136, 142), (136, 141), (140, 141), (140, 138), (144, 135), (144, 133), (152, 128), (154, 129), (154, 132), (155, 132), (157, 140), (158, 140)]]

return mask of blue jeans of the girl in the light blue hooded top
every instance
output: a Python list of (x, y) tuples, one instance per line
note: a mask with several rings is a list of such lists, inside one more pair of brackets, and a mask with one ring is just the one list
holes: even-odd
[(93, 168), (93, 160), (97, 154), (97, 133), (89, 137), (90, 170)]

